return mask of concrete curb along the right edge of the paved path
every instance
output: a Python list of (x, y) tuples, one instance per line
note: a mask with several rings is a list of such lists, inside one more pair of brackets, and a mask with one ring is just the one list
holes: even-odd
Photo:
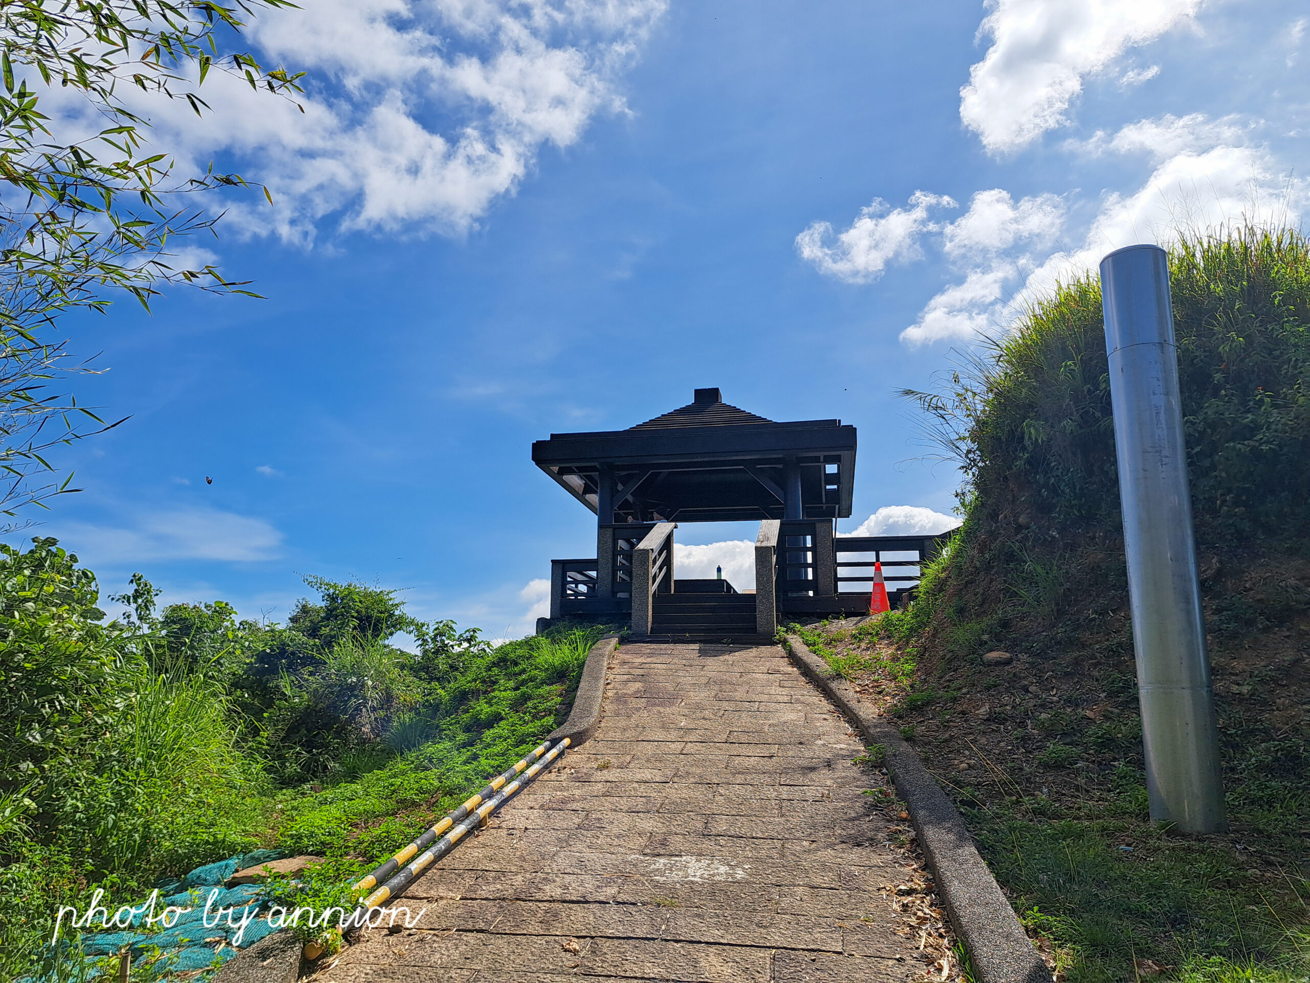
[(1051, 971), (979, 856), (964, 820), (918, 754), (895, 727), (862, 703), (854, 687), (833, 676), (799, 637), (789, 634), (786, 647), (800, 670), (859, 726), (865, 738), (887, 750), (887, 769), (896, 794), (909, 807), (938, 894), (973, 962), (973, 978), (979, 983), (1052, 983)]

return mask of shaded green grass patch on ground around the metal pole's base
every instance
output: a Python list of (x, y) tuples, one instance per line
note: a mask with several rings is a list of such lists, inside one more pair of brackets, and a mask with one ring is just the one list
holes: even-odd
[(1133, 819), (1043, 820), (996, 806), (969, 818), (1020, 920), (1056, 942), (1070, 983), (1133, 979), (1134, 955), (1179, 980), (1310, 971), (1306, 911), (1286, 900), (1305, 898), (1305, 882), (1250, 887), (1231, 851)]

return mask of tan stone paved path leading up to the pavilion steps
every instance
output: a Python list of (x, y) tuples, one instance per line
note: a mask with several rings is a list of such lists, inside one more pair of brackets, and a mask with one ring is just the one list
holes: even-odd
[(778, 647), (624, 645), (596, 735), (314, 980), (921, 978), (859, 754)]

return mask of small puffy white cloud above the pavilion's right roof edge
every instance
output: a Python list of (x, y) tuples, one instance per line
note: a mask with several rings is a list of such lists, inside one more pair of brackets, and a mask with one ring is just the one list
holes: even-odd
[(909, 208), (888, 210), (887, 202), (875, 198), (859, 210), (859, 218), (837, 236), (832, 246), (825, 244), (832, 236), (832, 225), (814, 222), (796, 236), (796, 252), (820, 273), (846, 283), (875, 280), (888, 263), (908, 262), (920, 256), (920, 236), (937, 228), (929, 222), (929, 208), (956, 207), (951, 198), (927, 191), (914, 191), (909, 204)]

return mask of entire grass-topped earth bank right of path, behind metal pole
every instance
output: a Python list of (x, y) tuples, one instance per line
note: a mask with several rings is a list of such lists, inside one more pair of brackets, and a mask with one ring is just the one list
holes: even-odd
[(1171, 274), (1230, 832), (1148, 819), (1094, 282), (924, 398), (969, 482), (913, 608), (811, 637), (899, 717), (1069, 980), (1303, 979), (1310, 245), (1237, 231)]

